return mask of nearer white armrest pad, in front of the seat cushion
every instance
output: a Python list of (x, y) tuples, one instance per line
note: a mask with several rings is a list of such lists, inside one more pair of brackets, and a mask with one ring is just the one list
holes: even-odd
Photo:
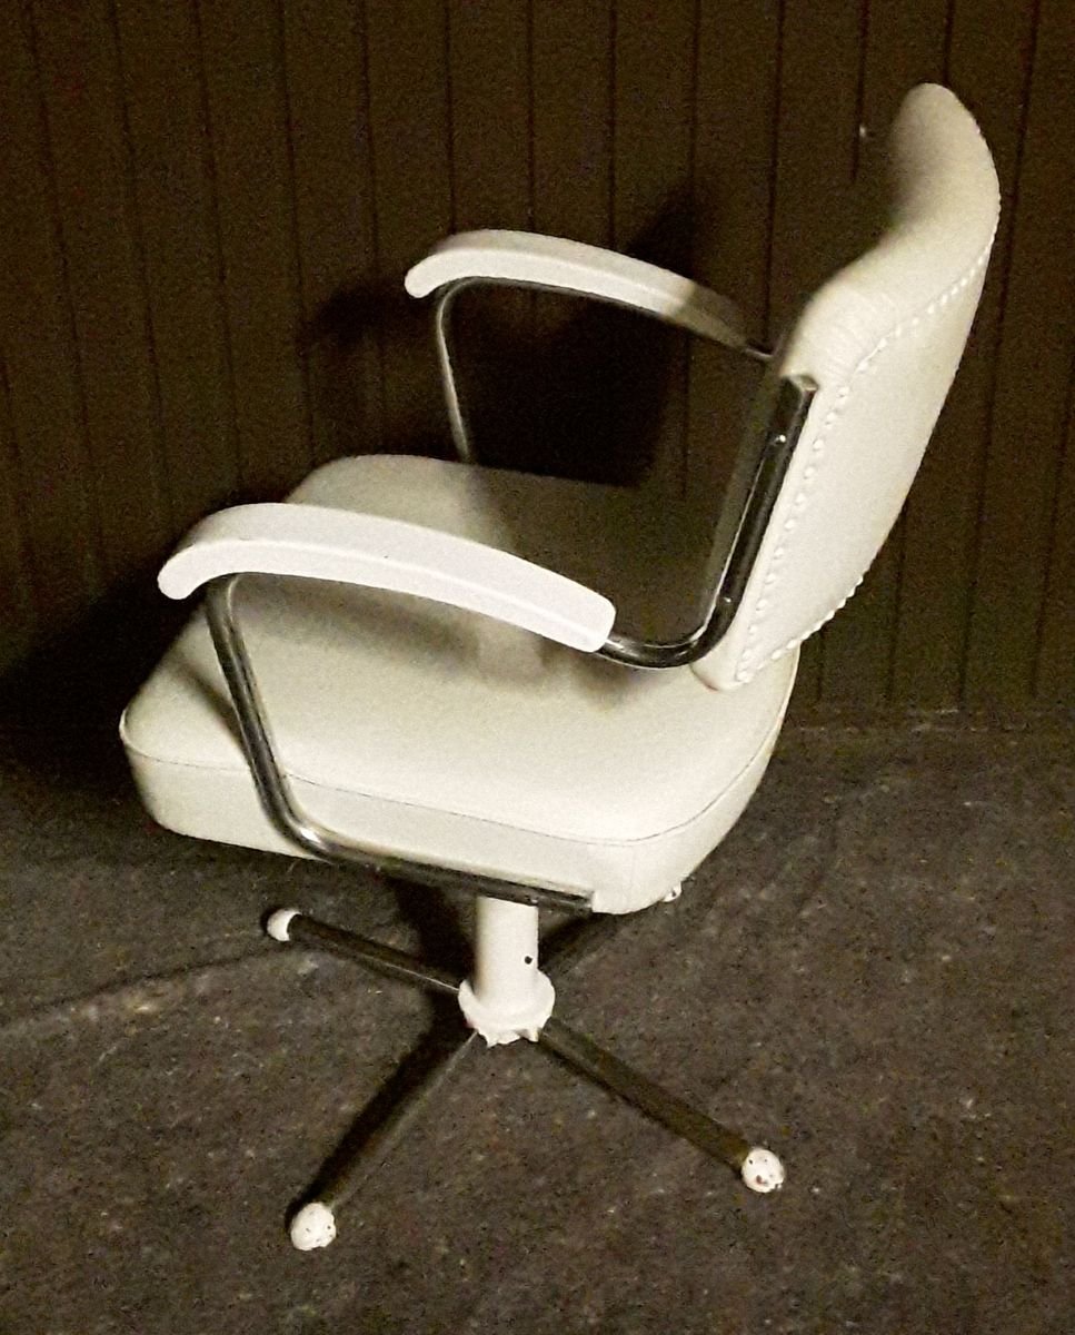
[(195, 525), (157, 575), (185, 598), (227, 574), (299, 575), (416, 594), (595, 650), (616, 610), (508, 551), (416, 523), (312, 505), (244, 505)]

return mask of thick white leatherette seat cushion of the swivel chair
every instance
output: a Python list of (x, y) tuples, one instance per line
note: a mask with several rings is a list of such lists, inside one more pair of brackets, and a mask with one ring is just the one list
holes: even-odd
[[(343, 459), (292, 501), (392, 515), (540, 561), (606, 593), (630, 629), (690, 615), (686, 525), (618, 487), (413, 457)], [(760, 781), (791, 655), (734, 693), (642, 672), (424, 599), (248, 577), (240, 623), (297, 802), (397, 856), (654, 902)], [(624, 625), (618, 618), (618, 625)], [(295, 854), (248, 774), (197, 613), (128, 706), (143, 798), (184, 834)]]

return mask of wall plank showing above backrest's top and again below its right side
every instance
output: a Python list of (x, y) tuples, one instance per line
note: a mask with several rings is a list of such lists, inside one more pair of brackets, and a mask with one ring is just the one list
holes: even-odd
[[(947, 0), (870, 0), (863, 32), (856, 186), (863, 202), (883, 187), (888, 127), (904, 95), (944, 72)], [(899, 522), (862, 587), (826, 627), (822, 696), (827, 702), (879, 708), (891, 696), (899, 618), (904, 526)]]

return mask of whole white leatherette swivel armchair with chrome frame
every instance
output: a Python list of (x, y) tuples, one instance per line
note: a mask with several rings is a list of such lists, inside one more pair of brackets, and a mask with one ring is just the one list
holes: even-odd
[[(939, 87), (908, 95), (888, 158), (876, 242), (772, 352), (728, 300), (651, 264), (521, 232), (444, 242), (407, 290), (436, 300), (461, 461), (340, 459), (287, 503), (204, 519), (160, 573), (165, 594), (204, 587), (205, 605), (123, 718), (156, 820), (476, 896), (465, 980), (293, 909), (268, 918), (279, 941), (457, 997), (469, 1036), (427, 1095), (475, 1032), (525, 1037), (755, 1191), (783, 1180), (768, 1151), (552, 1016), (538, 914), (675, 897), (762, 778), (798, 646), (900, 511), (971, 327), (999, 194), (978, 128)], [(631, 307), (763, 363), (700, 562), (651, 497), (472, 462), (448, 312), (477, 283)], [(336, 1156), (292, 1219), (295, 1246), (332, 1240), (416, 1107)]]

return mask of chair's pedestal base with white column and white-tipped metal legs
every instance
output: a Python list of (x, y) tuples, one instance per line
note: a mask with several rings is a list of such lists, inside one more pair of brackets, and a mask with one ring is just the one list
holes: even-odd
[(471, 1027), (371, 1135), (344, 1141), (291, 1220), (291, 1240), (300, 1251), (327, 1247), (333, 1240), (340, 1210), (468, 1060), (479, 1035), (491, 1045), (520, 1037), (538, 1043), (711, 1157), (735, 1168), (751, 1191), (770, 1192), (783, 1184), (783, 1165), (771, 1151), (752, 1147), (738, 1132), (722, 1127), (552, 1017), (552, 983), (538, 968), (536, 906), (480, 897), (476, 910), (475, 967), (465, 981), (403, 951), (343, 932), (295, 909), (279, 909), (269, 916), (267, 930), (273, 940), (327, 951), (399, 981), (453, 996)]

